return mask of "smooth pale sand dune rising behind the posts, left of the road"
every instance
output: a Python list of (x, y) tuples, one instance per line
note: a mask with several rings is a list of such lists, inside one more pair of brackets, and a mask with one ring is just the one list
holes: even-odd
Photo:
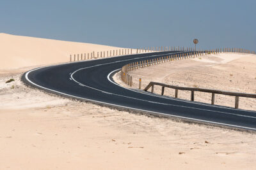
[(77, 43), (0, 33), (0, 70), (68, 62), (73, 53), (120, 49), (115, 46)]

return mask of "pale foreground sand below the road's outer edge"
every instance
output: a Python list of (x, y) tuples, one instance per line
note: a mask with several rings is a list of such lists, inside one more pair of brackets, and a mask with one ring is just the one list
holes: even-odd
[(255, 169), (255, 134), (31, 89), (20, 81), (29, 64), (0, 73), (0, 169)]

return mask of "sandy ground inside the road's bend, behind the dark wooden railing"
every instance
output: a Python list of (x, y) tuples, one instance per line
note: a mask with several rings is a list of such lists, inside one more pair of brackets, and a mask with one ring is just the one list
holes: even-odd
[[(138, 89), (139, 78), (142, 78), (144, 89), (150, 81), (162, 82), (182, 87), (200, 87), (231, 92), (256, 94), (256, 55), (221, 53), (201, 56), (196, 59), (175, 60), (157, 66), (144, 67), (129, 72), (133, 87)], [(120, 81), (119, 74), (115, 81)], [(126, 85), (124, 85), (126, 86)], [(127, 86), (126, 86), (127, 87)], [(149, 89), (151, 90), (151, 89)], [(161, 87), (154, 92), (161, 94)], [(174, 89), (165, 89), (164, 95), (175, 96)], [(190, 100), (191, 92), (179, 90), (179, 98)], [(234, 107), (235, 97), (216, 94), (215, 104)], [(195, 101), (211, 103), (211, 94), (195, 92)], [(240, 97), (239, 108), (256, 110), (256, 99)]]

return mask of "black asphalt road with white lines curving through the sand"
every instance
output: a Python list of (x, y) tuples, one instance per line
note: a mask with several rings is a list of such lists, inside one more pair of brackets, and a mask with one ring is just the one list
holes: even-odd
[[(120, 69), (125, 64), (171, 53), (177, 52), (126, 55), (42, 67), (28, 71), (22, 76), (22, 80), (38, 89), (93, 103), (154, 115), (170, 115), (170, 117), (182, 118), (186, 121), (256, 131), (256, 111), (235, 110), (223, 106), (152, 95), (147, 92), (136, 92), (108, 80), (109, 73)], [(115, 72), (109, 76), (112, 81), (113, 74)]]

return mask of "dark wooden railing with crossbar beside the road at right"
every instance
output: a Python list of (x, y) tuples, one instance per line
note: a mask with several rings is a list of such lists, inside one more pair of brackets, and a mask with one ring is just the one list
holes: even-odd
[(246, 93), (239, 93), (239, 92), (227, 92), (222, 90), (214, 90), (214, 89), (201, 89), (201, 88), (195, 88), (195, 87), (179, 87), (175, 85), (166, 85), (164, 83), (157, 83), (154, 81), (151, 81), (148, 83), (147, 87), (145, 87), (144, 91), (147, 92), (148, 89), (151, 87), (151, 92), (154, 93), (154, 85), (159, 85), (162, 87), (161, 95), (164, 95), (164, 87), (175, 89), (175, 98), (178, 97), (178, 90), (186, 90), (191, 91), (191, 101), (194, 101), (195, 99), (195, 93), (194, 92), (207, 92), (212, 94), (211, 104), (214, 104), (215, 94), (223, 94), (226, 96), (236, 96), (236, 103), (235, 108), (237, 109), (239, 107), (239, 97), (250, 97), (250, 98), (256, 98), (256, 94), (246, 94)]

